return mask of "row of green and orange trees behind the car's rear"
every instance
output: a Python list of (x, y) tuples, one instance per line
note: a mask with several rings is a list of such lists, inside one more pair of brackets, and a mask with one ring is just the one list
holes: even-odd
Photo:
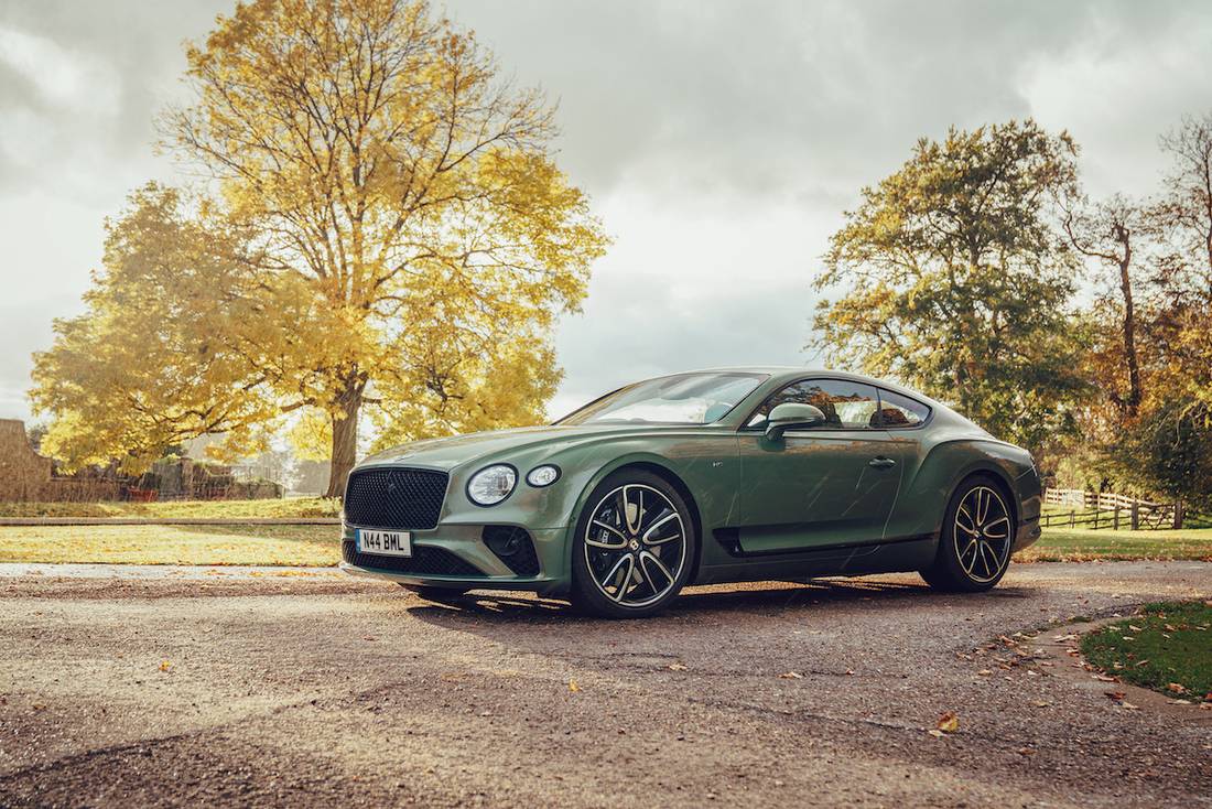
[(1028, 446), (1062, 485), (1212, 506), (1212, 114), (1147, 198), (1035, 121), (921, 139), (830, 240), (812, 348)]

